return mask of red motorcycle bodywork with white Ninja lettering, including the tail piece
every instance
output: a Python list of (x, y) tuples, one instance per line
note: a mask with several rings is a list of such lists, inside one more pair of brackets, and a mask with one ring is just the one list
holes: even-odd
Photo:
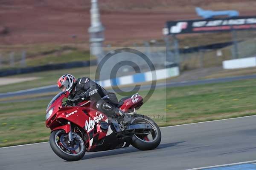
[[(143, 104), (143, 98), (140, 95), (133, 95), (128, 98), (120, 109), (128, 111)], [(70, 131), (68, 124), (61, 126), (61, 122), (70, 121), (73, 124), (83, 128), (86, 132), (86, 146), (88, 152), (112, 150), (121, 147), (128, 147), (131, 144), (129, 137), (122, 137), (121, 139), (116, 135), (116, 128), (114, 127), (111, 118), (108, 118), (104, 113), (93, 109), (94, 103), (84, 101), (80, 106), (65, 107), (61, 104), (62, 99), (66, 97), (64, 94), (59, 95), (55, 102), (50, 104), (48, 110), (54, 107), (53, 114), (46, 121), (47, 127), (51, 130), (63, 129), (66, 133)], [(83, 105), (83, 106), (81, 106)], [(102, 130), (100, 122), (108, 122), (108, 130)], [(89, 124), (90, 122), (90, 124)], [(90, 127), (89, 125), (93, 125)], [(119, 128), (119, 127), (118, 127)], [(118, 130), (117, 130), (118, 131)]]

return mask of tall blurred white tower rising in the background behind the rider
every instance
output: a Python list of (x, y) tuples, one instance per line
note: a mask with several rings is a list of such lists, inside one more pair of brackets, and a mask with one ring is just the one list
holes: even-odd
[(98, 58), (98, 63), (104, 57), (102, 45), (104, 41), (104, 26), (100, 21), (99, 7), (97, 0), (91, 0), (90, 9), (91, 26), (88, 29), (90, 34), (90, 53)]

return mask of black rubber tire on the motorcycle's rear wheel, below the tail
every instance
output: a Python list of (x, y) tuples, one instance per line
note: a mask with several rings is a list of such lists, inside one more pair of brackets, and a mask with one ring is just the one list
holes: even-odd
[[(137, 118), (134, 118), (131, 123), (148, 123), (152, 127), (152, 131), (155, 131), (155, 137), (151, 141), (145, 141), (142, 139), (142, 136), (133, 135), (131, 145), (136, 147), (139, 150), (153, 150), (155, 149), (161, 142), (161, 131), (157, 124), (145, 115), (137, 115)], [(153, 135), (152, 135), (153, 136)]]

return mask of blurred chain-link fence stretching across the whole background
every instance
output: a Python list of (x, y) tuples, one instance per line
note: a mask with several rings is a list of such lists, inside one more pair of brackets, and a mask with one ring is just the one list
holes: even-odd
[[(256, 31), (236, 31), (226, 33), (204, 33), (198, 35), (169, 36), (163, 40), (150, 40), (133, 47), (140, 46), (143, 52), (154, 64), (156, 69), (163, 69), (174, 63), (179, 64), (181, 70), (208, 68), (221, 66), (222, 61), (256, 56)], [(104, 47), (104, 55), (113, 48)], [(23, 68), (51, 63), (86, 61), (92, 59), (88, 51), (74, 47), (59, 47), (55, 49), (41, 49), (39, 55), (33, 58), (26, 50), (9, 51), (0, 53), (0, 69)], [(32, 56), (32, 57), (31, 57)], [(96, 58), (94, 58), (96, 59)], [(101, 59), (100, 59), (101, 60)], [(130, 60), (141, 64), (138, 58), (119, 54), (112, 61)], [(44, 61), (44, 62), (42, 62)], [(112, 65), (110, 65), (111, 67)], [(142, 72), (148, 71), (140, 66)], [(118, 76), (129, 75), (131, 68), (123, 67)]]

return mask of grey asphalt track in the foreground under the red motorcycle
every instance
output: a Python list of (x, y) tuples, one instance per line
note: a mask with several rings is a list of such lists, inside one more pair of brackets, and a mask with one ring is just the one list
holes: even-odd
[(68, 162), (49, 143), (0, 148), (0, 170), (186, 170), (256, 160), (256, 116), (161, 128), (155, 150), (85, 153)]

